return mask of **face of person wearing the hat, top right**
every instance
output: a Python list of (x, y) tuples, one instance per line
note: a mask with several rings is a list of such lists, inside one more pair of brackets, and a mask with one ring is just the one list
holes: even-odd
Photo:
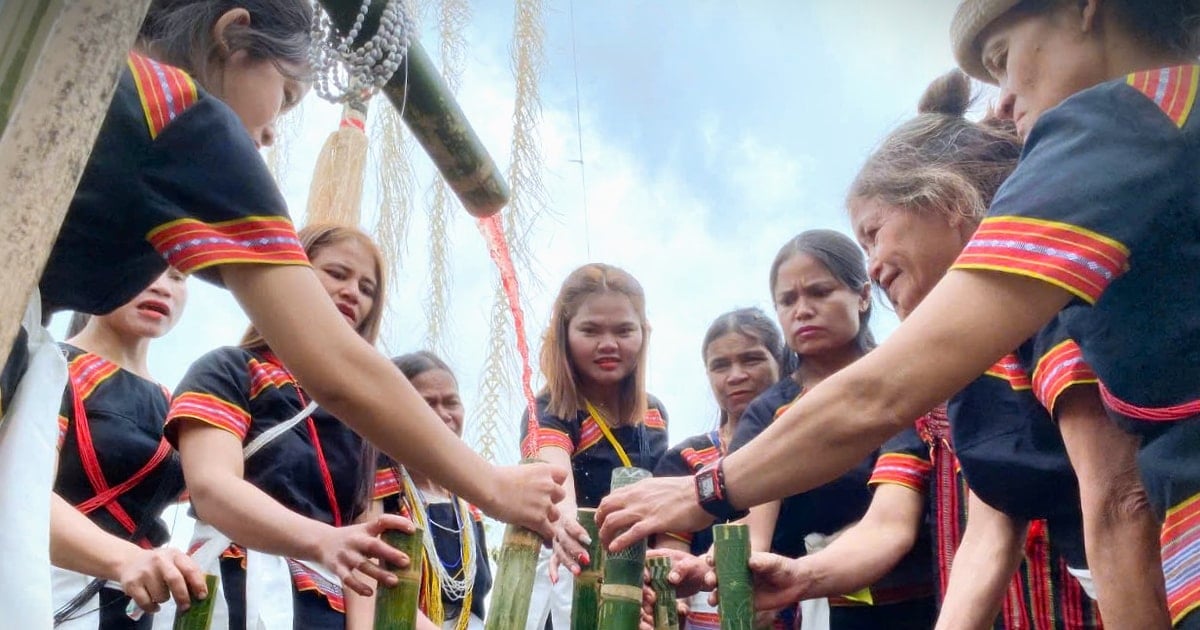
[(996, 113), (1016, 125), (1022, 140), (1048, 109), (1109, 78), (1096, 1), (1080, 5), (1009, 11), (980, 35), (983, 65), (1000, 84)]

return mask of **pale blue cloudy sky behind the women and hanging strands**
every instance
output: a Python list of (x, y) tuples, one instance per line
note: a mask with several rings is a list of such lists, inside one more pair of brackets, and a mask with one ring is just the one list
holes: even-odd
[[(436, 5), (436, 0), (426, 0)], [(848, 234), (844, 197), (858, 167), (916, 113), (925, 86), (954, 65), (953, 0), (606, 0), (544, 2), (545, 66), (538, 137), (547, 212), (530, 235), (535, 278), (522, 276), (536, 349), (558, 286), (604, 262), (643, 286), (652, 325), (648, 388), (665, 404), (671, 442), (708, 431), (716, 406), (701, 338), (720, 313), (760, 306), (773, 316), (767, 274), (778, 248), (809, 228)], [(458, 103), (502, 170), (510, 163), (514, 5), (472, 1)], [(426, 10), (426, 13), (428, 11)], [(421, 16), (437, 59), (437, 22)], [(374, 107), (389, 107), (378, 100)], [(282, 121), (280, 179), (298, 224), (320, 144), (338, 108), (314, 94)], [(582, 146), (582, 155), (580, 148)], [(414, 154), (420, 197), (392, 278), (382, 347), (420, 349), (430, 293), (425, 206), (431, 170)], [(582, 160), (582, 166), (580, 161)], [(582, 185), (586, 175), (587, 186)], [(378, 194), (368, 181), (365, 227)], [(450, 326), (455, 368), (474, 439), (498, 276), (470, 217), (450, 226)], [(246, 318), (199, 280), (181, 323), (151, 344), (151, 371), (174, 386), (203, 353), (236, 343)], [(877, 301), (874, 328), (895, 317)], [(62, 320), (55, 332), (61, 337)], [(514, 380), (516, 374), (514, 374)], [(541, 383), (535, 376), (535, 386)], [(511, 444), (523, 402), (510, 396)]]

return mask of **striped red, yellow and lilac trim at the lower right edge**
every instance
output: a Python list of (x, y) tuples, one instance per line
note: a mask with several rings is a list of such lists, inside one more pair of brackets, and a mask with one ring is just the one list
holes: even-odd
[(1166, 607), (1178, 624), (1200, 607), (1200, 494), (1166, 511), (1160, 542)]

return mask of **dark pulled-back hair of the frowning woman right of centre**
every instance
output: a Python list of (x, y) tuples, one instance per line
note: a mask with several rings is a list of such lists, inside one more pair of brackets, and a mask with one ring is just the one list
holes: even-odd
[[(775, 284), (779, 281), (779, 268), (799, 254), (815, 258), (818, 263), (838, 278), (850, 290), (859, 292), (871, 283), (866, 274), (866, 260), (863, 259), (863, 250), (854, 241), (840, 232), (832, 229), (810, 229), (797, 234), (792, 240), (784, 244), (775, 254), (775, 260), (770, 264), (770, 295), (774, 300)], [(872, 302), (868, 301), (866, 310), (858, 313), (858, 335), (854, 336), (854, 346), (859, 352), (866, 353), (875, 348), (875, 335), (871, 334)], [(788, 349), (790, 358), (787, 372), (784, 372), (784, 364), (780, 364), (780, 372), (791, 374), (800, 366), (800, 356), (794, 350)]]

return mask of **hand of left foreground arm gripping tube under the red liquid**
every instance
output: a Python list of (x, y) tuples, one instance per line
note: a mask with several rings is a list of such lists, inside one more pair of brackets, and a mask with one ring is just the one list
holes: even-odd
[(554, 504), (565, 496), (566, 474), (564, 468), (540, 462), (497, 467), (488, 504), (480, 508), (497, 520), (526, 527), (550, 540), (559, 520)]

